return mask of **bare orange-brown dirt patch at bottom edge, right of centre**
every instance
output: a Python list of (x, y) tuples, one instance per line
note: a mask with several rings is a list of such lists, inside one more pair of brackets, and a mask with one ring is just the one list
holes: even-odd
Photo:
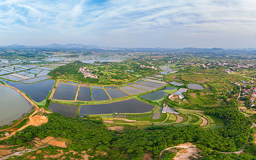
[(177, 151), (176, 156), (174, 157), (173, 160), (192, 160), (192, 159), (197, 159), (198, 157), (201, 157), (198, 155), (200, 152), (199, 149), (196, 147), (189, 147), (186, 149), (180, 149)]

